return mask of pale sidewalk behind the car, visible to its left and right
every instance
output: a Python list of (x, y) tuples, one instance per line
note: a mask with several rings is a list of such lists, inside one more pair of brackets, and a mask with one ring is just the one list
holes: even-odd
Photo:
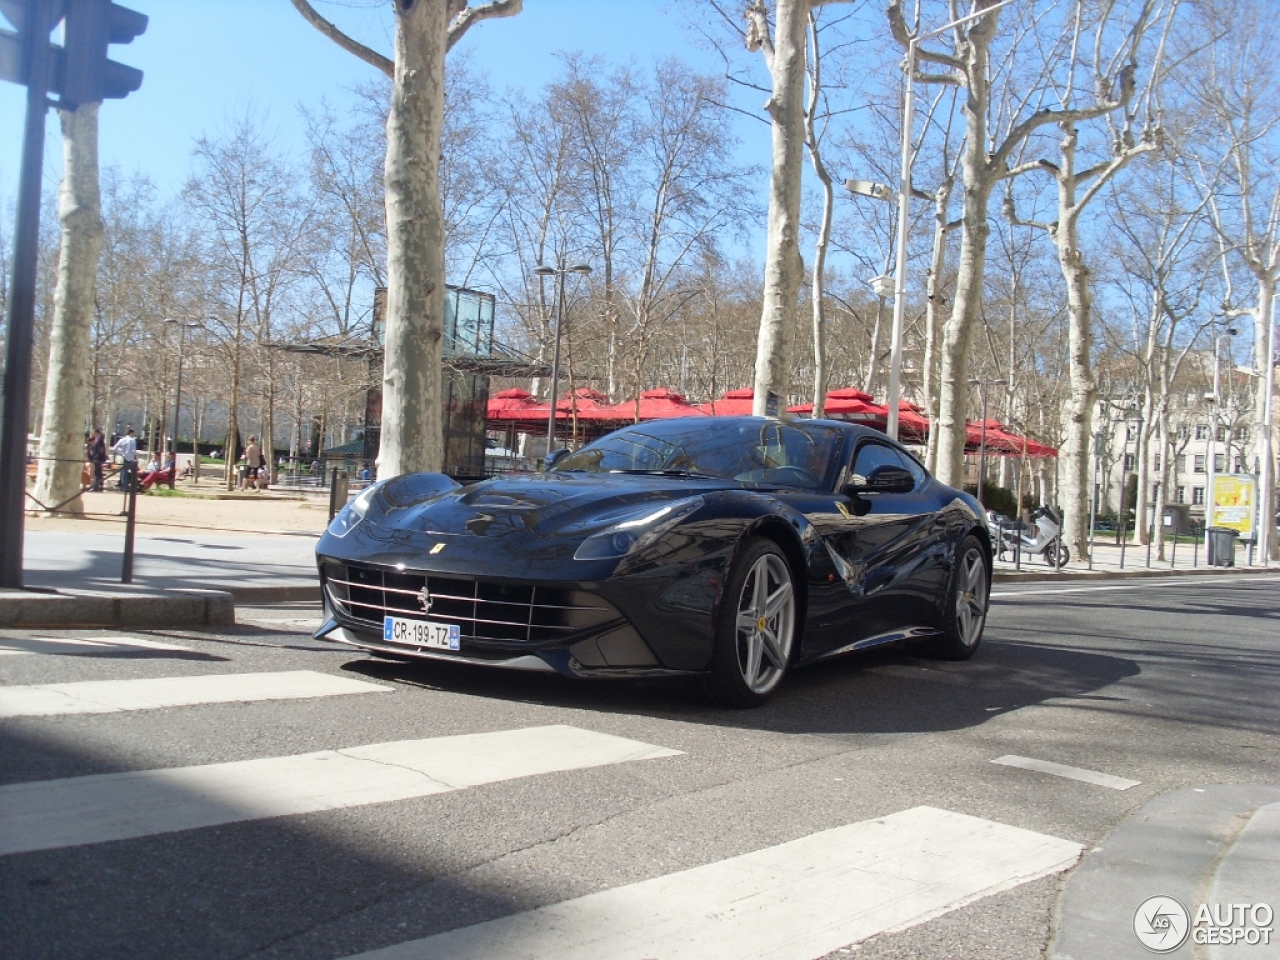
[[(210, 490), (212, 493), (212, 490)], [(274, 492), (273, 492), (274, 493)], [(122, 584), (124, 522), (119, 494), (86, 500), (86, 518), (27, 521), (28, 588), (0, 591), (0, 627), (223, 626), (236, 603), (320, 603), (315, 543), (328, 521), (328, 502), (294, 495), (219, 494), (218, 498), (138, 498), (133, 582)], [(1206, 564), (1203, 545), (1172, 544), (1165, 561), (1129, 544), (1124, 567), (1115, 541), (1096, 541), (1093, 570), (1071, 558), (1053, 570), (1041, 557), (997, 561), (997, 582), (1094, 580), (1185, 573), (1225, 573)], [(1262, 572), (1236, 549), (1230, 572)], [(1272, 566), (1271, 570), (1280, 570)]]

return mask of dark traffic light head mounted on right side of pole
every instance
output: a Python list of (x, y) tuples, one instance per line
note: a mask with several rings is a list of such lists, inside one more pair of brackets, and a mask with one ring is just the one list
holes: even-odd
[(147, 28), (147, 17), (110, 0), (65, 0), (61, 70), (52, 88), (69, 106), (119, 100), (142, 86), (142, 70), (109, 60), (110, 44), (129, 44)]

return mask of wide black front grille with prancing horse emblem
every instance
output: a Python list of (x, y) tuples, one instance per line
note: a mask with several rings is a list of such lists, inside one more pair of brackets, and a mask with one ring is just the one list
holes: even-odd
[[(379, 634), (389, 614), (457, 623), (463, 640), (541, 644), (621, 616), (599, 596), (564, 588), (424, 576), (333, 561), (325, 563), (324, 575), (337, 612)], [(425, 613), (424, 586), (431, 598)]]

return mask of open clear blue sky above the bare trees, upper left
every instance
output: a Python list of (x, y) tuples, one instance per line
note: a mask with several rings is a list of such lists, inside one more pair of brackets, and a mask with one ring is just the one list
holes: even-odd
[[(146, 73), (142, 88), (101, 113), (101, 160), (148, 174), (163, 193), (180, 188), (193, 141), (214, 133), (247, 106), (265, 113), (285, 150), (302, 154), (297, 106), (326, 97), (342, 105), (347, 91), (374, 69), (339, 50), (302, 20), (289, 0), (124, 0), (151, 18), (132, 45), (113, 58)], [(320, 0), (317, 9), (362, 42), (390, 54), (388, 0)], [(708, 72), (718, 60), (696, 46), (680, 4), (672, 0), (526, 0), (513, 19), (472, 28), (458, 49), (488, 72), (493, 87), (538, 90), (558, 69), (557, 51), (581, 50), (612, 61), (640, 64), (684, 56)], [(0, 192), (15, 198), (24, 91), (0, 83)], [(56, 115), (47, 118), (45, 186), (56, 187), (60, 142)], [(744, 122), (745, 145), (767, 156), (768, 131)], [(759, 129), (755, 129), (759, 128)], [(755, 152), (755, 151), (764, 151)], [(12, 230), (12, 224), (0, 229)]]

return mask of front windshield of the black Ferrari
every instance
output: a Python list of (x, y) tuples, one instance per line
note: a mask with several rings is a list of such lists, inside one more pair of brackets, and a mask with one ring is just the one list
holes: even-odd
[(836, 428), (716, 417), (654, 421), (617, 430), (556, 462), (556, 474), (654, 474), (820, 490), (841, 445)]

